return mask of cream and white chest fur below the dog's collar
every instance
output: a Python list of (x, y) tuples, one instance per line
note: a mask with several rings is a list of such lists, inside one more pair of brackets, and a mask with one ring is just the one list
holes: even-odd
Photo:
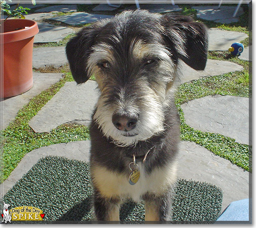
[(160, 195), (176, 180), (176, 163), (154, 169), (150, 174), (145, 173), (142, 162), (137, 163), (140, 170), (140, 178), (134, 185), (129, 183), (129, 176), (109, 171), (105, 167), (91, 169), (93, 182), (106, 197), (119, 196), (132, 198), (139, 202), (140, 197), (149, 192)]

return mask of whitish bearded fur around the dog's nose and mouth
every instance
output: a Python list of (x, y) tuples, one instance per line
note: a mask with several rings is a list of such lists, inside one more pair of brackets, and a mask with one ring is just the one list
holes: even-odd
[[(116, 113), (117, 109), (113, 109), (113, 106), (106, 104), (104, 100), (104, 98), (98, 100), (93, 119), (100, 126), (103, 134), (113, 139), (113, 143), (116, 145), (135, 146), (139, 141), (145, 141), (152, 137), (152, 135), (158, 134), (164, 130), (162, 106), (153, 97), (149, 96), (143, 99), (144, 102), (139, 108), (139, 120), (136, 127), (128, 132), (120, 131), (115, 128), (112, 122), (112, 116)], [(120, 106), (119, 108), (121, 109)], [(132, 109), (132, 107), (130, 109)]]

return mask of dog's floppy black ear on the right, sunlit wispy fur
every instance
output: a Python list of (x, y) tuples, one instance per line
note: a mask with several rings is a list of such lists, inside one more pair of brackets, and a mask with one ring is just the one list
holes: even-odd
[(208, 35), (204, 24), (182, 15), (163, 15), (165, 37), (178, 58), (195, 70), (204, 70), (208, 54)]

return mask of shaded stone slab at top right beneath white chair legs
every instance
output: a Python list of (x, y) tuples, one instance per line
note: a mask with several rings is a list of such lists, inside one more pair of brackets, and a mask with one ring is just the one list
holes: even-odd
[(239, 16), (243, 14), (243, 8), (239, 7), (236, 17), (233, 17), (236, 6), (221, 6), (220, 9), (218, 6), (195, 6), (192, 8), (197, 10), (197, 17), (223, 24), (238, 22)]

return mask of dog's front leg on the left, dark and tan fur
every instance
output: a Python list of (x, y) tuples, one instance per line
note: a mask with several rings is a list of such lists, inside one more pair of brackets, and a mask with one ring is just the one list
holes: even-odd
[(98, 221), (119, 221), (120, 200), (102, 196), (100, 191), (95, 190), (94, 209)]

